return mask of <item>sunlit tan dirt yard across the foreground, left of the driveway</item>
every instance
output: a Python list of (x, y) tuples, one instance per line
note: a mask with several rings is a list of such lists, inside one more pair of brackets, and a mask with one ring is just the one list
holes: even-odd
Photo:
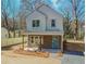
[(12, 51), (2, 51), (1, 59), (1, 64), (61, 64), (60, 59), (22, 55)]

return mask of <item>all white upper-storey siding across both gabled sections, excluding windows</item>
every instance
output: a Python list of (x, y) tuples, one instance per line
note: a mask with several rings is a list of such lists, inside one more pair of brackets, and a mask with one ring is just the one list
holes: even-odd
[[(50, 9), (47, 5), (42, 5), (41, 8), (39, 8), (39, 11), (41, 11), (42, 13), (45, 13), (47, 15), (47, 29), (52, 30), (54, 29), (60, 30), (61, 33), (63, 31), (63, 17), (62, 15), (60, 15), (59, 13), (57, 13), (56, 11), (53, 11), (52, 9)], [(33, 12), (27, 21), (27, 30), (30, 31), (45, 31), (46, 30), (46, 16), (38, 12), (35, 11)], [(39, 27), (34, 27), (32, 26), (32, 22), (33, 20), (40, 20), (40, 26)], [(56, 20), (56, 27), (51, 27), (51, 20)]]

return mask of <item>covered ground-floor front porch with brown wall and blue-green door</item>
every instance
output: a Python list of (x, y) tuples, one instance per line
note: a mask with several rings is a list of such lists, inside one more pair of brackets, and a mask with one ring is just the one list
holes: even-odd
[[(63, 34), (54, 33), (25, 33), (27, 36), (27, 48), (38, 48), (39, 51), (63, 52)], [(23, 49), (25, 47), (23, 46)]]

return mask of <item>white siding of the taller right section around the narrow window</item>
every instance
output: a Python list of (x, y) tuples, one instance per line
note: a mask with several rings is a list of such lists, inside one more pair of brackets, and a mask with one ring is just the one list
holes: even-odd
[[(47, 28), (48, 29), (60, 29), (63, 31), (63, 17), (51, 8), (42, 5), (39, 9), (41, 12), (48, 15)], [(56, 20), (56, 27), (51, 27), (51, 20)]]

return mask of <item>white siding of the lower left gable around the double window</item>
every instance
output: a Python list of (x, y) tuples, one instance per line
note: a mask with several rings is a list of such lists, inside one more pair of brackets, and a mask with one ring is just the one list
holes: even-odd
[[(33, 27), (33, 24), (32, 24), (33, 20), (39, 20), (40, 21), (39, 27)], [(27, 30), (29, 30), (29, 31), (44, 31), (44, 30), (46, 30), (46, 18), (41, 13), (39, 13), (37, 11), (35, 11), (34, 13), (32, 13), (28, 16), (28, 18), (26, 20), (26, 24), (27, 24), (26, 25)]]

